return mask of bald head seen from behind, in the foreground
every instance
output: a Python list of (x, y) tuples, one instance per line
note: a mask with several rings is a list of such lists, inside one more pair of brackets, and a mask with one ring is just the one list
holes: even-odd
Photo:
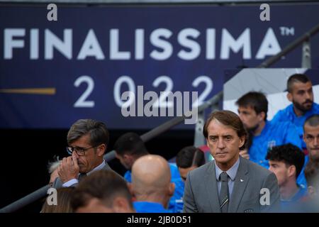
[(169, 187), (171, 172), (167, 160), (159, 155), (145, 155), (132, 167), (135, 194), (162, 193)]

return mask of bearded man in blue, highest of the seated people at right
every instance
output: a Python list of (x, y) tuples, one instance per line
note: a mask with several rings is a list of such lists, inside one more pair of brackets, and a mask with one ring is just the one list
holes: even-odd
[[(297, 127), (302, 138), (306, 118), (319, 114), (319, 104), (313, 102), (313, 84), (305, 74), (293, 74), (287, 81), (287, 91), (287, 98), (292, 104), (278, 111), (272, 121), (290, 121)], [(306, 144), (303, 143), (303, 149), (305, 148)]]

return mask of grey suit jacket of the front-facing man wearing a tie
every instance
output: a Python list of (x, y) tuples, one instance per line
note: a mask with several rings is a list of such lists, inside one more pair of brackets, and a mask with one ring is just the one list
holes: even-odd
[[(215, 160), (189, 172), (184, 190), (184, 212), (220, 213)], [(264, 204), (269, 189), (270, 204)], [(260, 202), (262, 200), (262, 203)], [(262, 205), (264, 204), (264, 205)], [(240, 157), (228, 212), (279, 211), (279, 187), (276, 176), (269, 170)]]

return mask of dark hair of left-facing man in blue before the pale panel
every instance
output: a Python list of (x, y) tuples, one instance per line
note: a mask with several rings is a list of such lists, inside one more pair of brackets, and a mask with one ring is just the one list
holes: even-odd
[(267, 120), (268, 100), (262, 92), (248, 92), (236, 101), (236, 105), (251, 107), (256, 114), (264, 112), (264, 120)]

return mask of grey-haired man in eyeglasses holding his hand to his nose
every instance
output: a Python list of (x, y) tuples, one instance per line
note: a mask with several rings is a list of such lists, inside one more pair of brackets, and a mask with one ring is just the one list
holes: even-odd
[(59, 177), (53, 187), (71, 187), (97, 170), (111, 170), (103, 155), (108, 145), (109, 133), (101, 121), (80, 119), (67, 133), (67, 153), (57, 168)]

